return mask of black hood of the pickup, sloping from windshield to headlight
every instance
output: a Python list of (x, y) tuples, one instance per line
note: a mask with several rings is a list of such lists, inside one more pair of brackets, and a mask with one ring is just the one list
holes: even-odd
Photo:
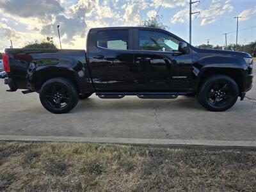
[(240, 58), (252, 58), (250, 54), (247, 52), (239, 52), (239, 51), (227, 51), (227, 50), (220, 50), (220, 49), (195, 49), (196, 52), (205, 53), (205, 54), (218, 54), (218, 55), (225, 55), (225, 56), (237, 56)]

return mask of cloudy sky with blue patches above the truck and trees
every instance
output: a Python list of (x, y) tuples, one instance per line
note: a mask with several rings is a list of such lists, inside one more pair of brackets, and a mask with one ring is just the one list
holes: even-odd
[[(52, 36), (58, 44), (60, 24), (64, 49), (85, 49), (90, 28), (137, 26), (158, 14), (168, 30), (188, 41), (189, 0), (0, 0), (0, 51)], [(160, 8), (161, 5), (161, 8)], [(160, 9), (159, 9), (160, 8)], [(193, 4), (192, 44), (224, 45), (236, 42), (236, 17), (240, 44), (256, 40), (256, 0), (201, 0)]]

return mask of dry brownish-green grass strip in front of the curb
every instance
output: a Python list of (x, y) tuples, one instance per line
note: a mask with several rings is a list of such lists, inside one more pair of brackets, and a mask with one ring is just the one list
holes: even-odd
[(0, 191), (256, 191), (256, 152), (0, 142)]

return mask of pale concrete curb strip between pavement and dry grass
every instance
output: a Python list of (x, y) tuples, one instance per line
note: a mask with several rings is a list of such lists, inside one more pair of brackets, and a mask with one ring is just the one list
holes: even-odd
[(76, 143), (113, 143), (122, 145), (144, 145), (154, 147), (201, 147), (201, 148), (255, 148), (256, 141), (225, 140), (169, 140), (137, 138), (86, 138), (72, 136), (13, 136), (0, 135), (0, 141), (54, 141)]

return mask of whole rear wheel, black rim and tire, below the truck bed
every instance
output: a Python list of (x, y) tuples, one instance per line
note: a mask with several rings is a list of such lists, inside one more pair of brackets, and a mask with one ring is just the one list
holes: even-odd
[(76, 86), (65, 78), (46, 81), (40, 90), (40, 101), (51, 113), (67, 113), (76, 107), (79, 100)]

